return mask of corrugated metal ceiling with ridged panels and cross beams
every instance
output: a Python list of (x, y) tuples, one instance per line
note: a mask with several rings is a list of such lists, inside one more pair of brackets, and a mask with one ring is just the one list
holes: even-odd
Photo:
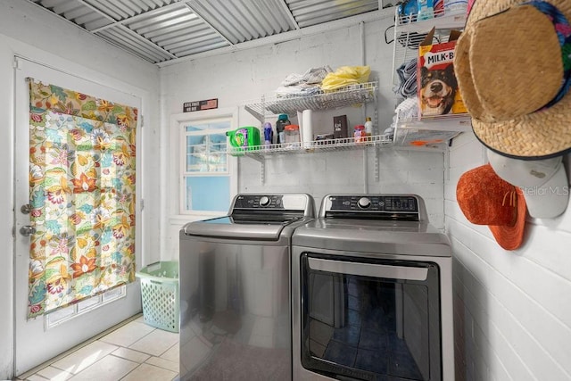
[(28, 0), (148, 62), (378, 10), (379, 0)]

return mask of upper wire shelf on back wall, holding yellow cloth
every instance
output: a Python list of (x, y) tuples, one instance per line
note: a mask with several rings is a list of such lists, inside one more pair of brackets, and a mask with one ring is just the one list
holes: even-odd
[(244, 104), (244, 109), (263, 122), (267, 114), (295, 115), (303, 110), (331, 110), (352, 104), (367, 104), (377, 99), (378, 82), (365, 82), (335, 91), (319, 90), (311, 95), (264, 97), (261, 102)]

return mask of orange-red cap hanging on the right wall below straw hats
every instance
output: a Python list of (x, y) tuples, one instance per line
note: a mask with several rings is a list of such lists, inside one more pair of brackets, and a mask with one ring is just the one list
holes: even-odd
[(526, 211), (524, 195), (498, 177), (490, 164), (468, 170), (459, 178), (456, 199), (468, 221), (488, 225), (502, 248), (516, 250), (521, 245)]

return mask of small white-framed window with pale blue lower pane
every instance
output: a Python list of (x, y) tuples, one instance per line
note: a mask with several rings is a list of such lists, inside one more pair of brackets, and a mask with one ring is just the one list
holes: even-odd
[(179, 214), (226, 213), (236, 194), (235, 159), (227, 153), (226, 132), (236, 128), (236, 112), (211, 110), (175, 116), (179, 151)]

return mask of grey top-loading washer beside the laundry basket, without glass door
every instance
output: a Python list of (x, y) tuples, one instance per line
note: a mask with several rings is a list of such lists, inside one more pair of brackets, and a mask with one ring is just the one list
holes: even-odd
[(237, 195), (180, 230), (180, 379), (291, 380), (291, 237), (310, 195)]

